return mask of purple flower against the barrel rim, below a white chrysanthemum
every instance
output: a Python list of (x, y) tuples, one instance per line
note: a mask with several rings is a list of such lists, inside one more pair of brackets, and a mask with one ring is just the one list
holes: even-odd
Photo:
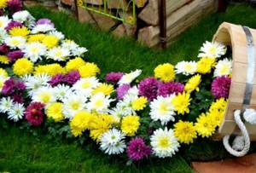
[(228, 76), (221, 76), (214, 78), (212, 81), (212, 95), (214, 98), (221, 97), (228, 98), (230, 93), (231, 78)]

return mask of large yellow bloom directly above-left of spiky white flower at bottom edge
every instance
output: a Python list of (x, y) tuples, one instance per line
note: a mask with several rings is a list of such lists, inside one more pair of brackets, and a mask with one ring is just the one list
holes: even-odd
[(103, 133), (110, 130), (115, 120), (108, 114), (94, 115), (90, 124), (90, 137), (99, 142)]

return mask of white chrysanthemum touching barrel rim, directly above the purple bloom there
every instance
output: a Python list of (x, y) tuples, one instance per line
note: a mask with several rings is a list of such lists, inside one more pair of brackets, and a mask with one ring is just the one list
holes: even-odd
[(214, 77), (230, 75), (232, 72), (232, 61), (225, 58), (222, 61), (218, 61), (218, 64), (215, 66)]

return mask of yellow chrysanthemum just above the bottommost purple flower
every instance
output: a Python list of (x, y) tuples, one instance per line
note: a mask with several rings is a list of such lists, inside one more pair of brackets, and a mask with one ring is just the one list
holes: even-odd
[(140, 125), (140, 118), (138, 116), (128, 115), (122, 119), (121, 130), (127, 136), (135, 136)]

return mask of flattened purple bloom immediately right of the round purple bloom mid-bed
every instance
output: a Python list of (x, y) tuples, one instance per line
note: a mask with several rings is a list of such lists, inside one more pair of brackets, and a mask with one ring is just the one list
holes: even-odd
[(172, 94), (182, 93), (184, 85), (177, 82), (161, 83), (158, 89), (158, 95), (168, 96)]

